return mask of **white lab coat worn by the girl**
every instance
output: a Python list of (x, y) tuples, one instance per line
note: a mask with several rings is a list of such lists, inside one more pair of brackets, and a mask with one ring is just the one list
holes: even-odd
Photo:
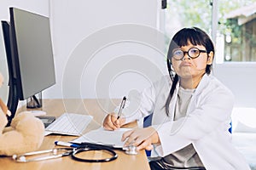
[[(171, 100), (170, 116), (166, 116), (164, 107), (171, 86), (170, 77), (164, 77), (151, 88), (145, 89), (143, 94), (135, 99), (140, 101), (137, 109), (128, 106), (123, 111), (126, 122), (154, 112), (152, 126), (160, 138), (160, 145), (154, 148), (159, 156), (169, 155), (188, 144), (193, 144), (208, 170), (250, 169), (231, 144), (228, 129), (234, 96), (230, 90), (215, 77), (205, 75), (192, 96), (187, 116), (173, 121), (177, 90)], [(177, 89), (178, 87), (179, 84)]]

